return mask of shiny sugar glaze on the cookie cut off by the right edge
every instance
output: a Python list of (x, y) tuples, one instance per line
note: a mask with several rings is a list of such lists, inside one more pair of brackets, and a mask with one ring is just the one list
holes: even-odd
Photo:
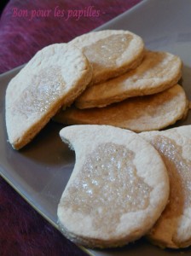
[(191, 207), (191, 161), (182, 158), (182, 147), (168, 137), (154, 137), (151, 143), (165, 161), (170, 177), (170, 203), (163, 216), (178, 217), (184, 208)]

